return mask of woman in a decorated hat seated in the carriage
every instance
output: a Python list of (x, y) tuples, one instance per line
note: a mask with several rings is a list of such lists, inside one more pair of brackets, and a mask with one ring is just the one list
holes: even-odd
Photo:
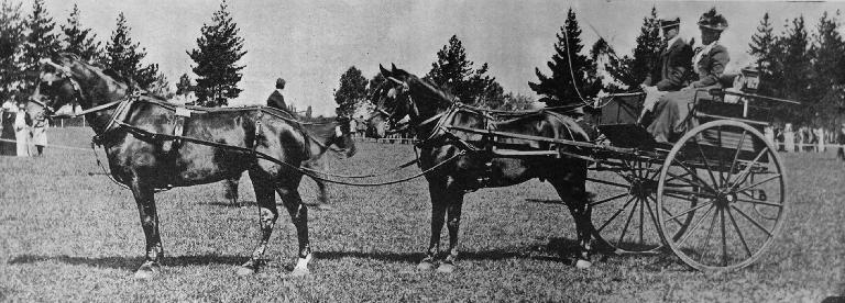
[(727, 20), (713, 8), (701, 15), (698, 24), (703, 44), (692, 57), (692, 68), (698, 79), (680, 91), (668, 92), (657, 100), (654, 106), (655, 119), (647, 130), (658, 143), (669, 143), (690, 128), (690, 124), (695, 123), (689, 119), (694, 99), (706, 98), (706, 90), (722, 87), (720, 79), (731, 58), (718, 38), (727, 29)]

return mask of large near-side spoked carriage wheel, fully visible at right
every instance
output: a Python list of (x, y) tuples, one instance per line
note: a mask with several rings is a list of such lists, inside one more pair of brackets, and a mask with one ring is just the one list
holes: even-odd
[(700, 125), (672, 147), (658, 180), (657, 213), (663, 240), (683, 262), (731, 270), (764, 254), (787, 211), (775, 150), (759, 131), (728, 120)]

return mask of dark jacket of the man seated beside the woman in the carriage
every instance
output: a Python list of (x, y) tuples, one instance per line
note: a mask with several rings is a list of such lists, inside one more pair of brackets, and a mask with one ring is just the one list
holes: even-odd
[(682, 38), (678, 38), (660, 53), (660, 65), (643, 82), (656, 86), (657, 90), (673, 91), (687, 86), (689, 72), (692, 70), (692, 47)]

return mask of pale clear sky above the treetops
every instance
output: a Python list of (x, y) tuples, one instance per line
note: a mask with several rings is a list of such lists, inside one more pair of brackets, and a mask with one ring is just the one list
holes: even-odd
[[(15, 0), (12, 0), (15, 1)], [(23, 1), (30, 10), (30, 0)], [(172, 83), (183, 74), (193, 78), (193, 60), (204, 23), (219, 10), (219, 0), (46, 0), (50, 15), (64, 24), (74, 3), (83, 26), (107, 41), (123, 12), (131, 37), (146, 48), (145, 63), (158, 64)], [(490, 65), (505, 91), (535, 96), (535, 68), (550, 74), (556, 35), (572, 8), (589, 50), (604, 37), (617, 54), (630, 54), (643, 19), (657, 8), (658, 16), (680, 16), (680, 35), (699, 37), (699, 16), (712, 7), (728, 21), (721, 43), (732, 56), (728, 72), (749, 64), (748, 43), (764, 13), (776, 33), (786, 20), (803, 15), (811, 31), (822, 13), (845, 9), (845, 1), (635, 1), (635, 0), (228, 0), (229, 11), (244, 38), (245, 65), (231, 105), (264, 103), (282, 77), (285, 100), (298, 109), (311, 105), (315, 114), (332, 115), (333, 90), (340, 75), (355, 66), (367, 78), (378, 64), (422, 76), (437, 52), (452, 35), (463, 43), (468, 58)], [(843, 18), (839, 18), (842, 21)], [(841, 29), (842, 30), (842, 29)]]

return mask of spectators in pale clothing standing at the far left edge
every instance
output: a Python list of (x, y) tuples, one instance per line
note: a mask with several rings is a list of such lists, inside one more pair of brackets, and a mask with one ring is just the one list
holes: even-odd
[(47, 120), (33, 119), (24, 103), (7, 100), (0, 108), (0, 156), (43, 156), (47, 145)]

